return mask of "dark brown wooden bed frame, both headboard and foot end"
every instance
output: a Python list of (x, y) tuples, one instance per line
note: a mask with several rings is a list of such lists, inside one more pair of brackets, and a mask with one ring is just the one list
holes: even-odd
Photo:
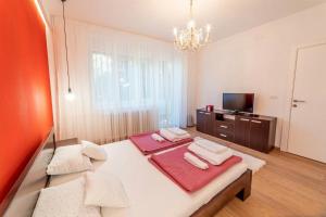
[[(0, 216), (3, 217), (29, 217), (35, 208), (39, 191), (48, 187), (50, 176), (47, 175), (47, 165), (50, 163), (57, 146), (76, 144), (77, 139), (70, 139), (62, 142), (55, 142), (53, 130), (48, 138), (36, 150), (34, 156), (27, 163), (25, 169), (13, 184), (10, 192), (0, 204)], [(52, 149), (49, 152), (49, 149)], [(50, 156), (42, 157), (42, 152), (47, 150)], [(40, 164), (42, 176), (40, 177)], [(37, 173), (37, 175), (36, 175)], [(216, 194), (209, 203), (195, 212), (191, 217), (211, 217), (222, 209), (235, 196), (244, 201), (251, 193), (252, 171), (247, 169), (237, 180), (231, 182), (223, 191)], [(35, 184), (38, 182), (38, 184)], [(27, 196), (26, 196), (27, 195)], [(24, 200), (22, 200), (24, 199)], [(23, 203), (22, 203), (23, 201)], [(22, 204), (23, 207), (22, 207)]]

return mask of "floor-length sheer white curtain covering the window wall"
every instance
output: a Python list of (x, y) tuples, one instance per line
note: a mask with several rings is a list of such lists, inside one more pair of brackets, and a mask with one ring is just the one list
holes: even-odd
[(67, 22), (67, 101), (63, 22), (53, 18), (60, 139), (100, 143), (166, 126), (186, 126), (187, 59), (172, 43)]

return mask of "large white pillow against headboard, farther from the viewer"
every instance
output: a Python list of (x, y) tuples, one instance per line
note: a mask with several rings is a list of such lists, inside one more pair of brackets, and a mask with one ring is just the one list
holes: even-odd
[(61, 175), (89, 169), (92, 169), (89, 157), (83, 155), (80, 144), (75, 144), (58, 148), (48, 165), (47, 173), (48, 175)]

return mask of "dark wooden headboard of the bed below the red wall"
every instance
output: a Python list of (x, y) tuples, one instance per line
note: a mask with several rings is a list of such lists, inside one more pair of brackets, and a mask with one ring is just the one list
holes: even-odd
[(39, 191), (49, 183), (50, 176), (46, 171), (54, 150), (55, 138), (52, 128), (1, 202), (1, 217), (32, 216)]

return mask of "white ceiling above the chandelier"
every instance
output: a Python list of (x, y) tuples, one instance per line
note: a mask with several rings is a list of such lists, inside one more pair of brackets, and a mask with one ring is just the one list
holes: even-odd
[[(61, 0), (41, 0), (51, 14), (61, 15)], [(326, 0), (195, 0), (195, 18), (212, 25), (212, 39), (234, 35)], [(67, 0), (70, 18), (173, 40), (173, 27), (184, 27), (189, 0)]]

